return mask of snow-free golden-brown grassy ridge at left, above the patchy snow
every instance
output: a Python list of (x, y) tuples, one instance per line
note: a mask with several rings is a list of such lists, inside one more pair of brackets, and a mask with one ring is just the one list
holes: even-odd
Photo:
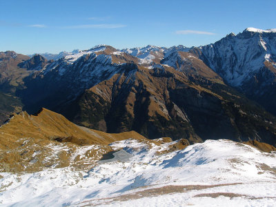
[(135, 138), (146, 139), (137, 132), (107, 134), (97, 130), (81, 128), (62, 115), (43, 108), (38, 115), (21, 112), (14, 115), (0, 128), (0, 148), (16, 148), (17, 140), (33, 138), (43, 141), (70, 142), (77, 145), (110, 144), (112, 141)]

